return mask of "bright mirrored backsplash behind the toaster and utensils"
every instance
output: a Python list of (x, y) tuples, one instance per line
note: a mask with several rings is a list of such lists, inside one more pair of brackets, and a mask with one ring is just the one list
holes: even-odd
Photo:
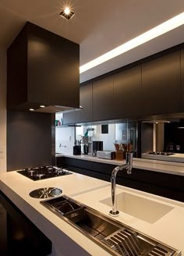
[(101, 124), (76, 127), (76, 140), (81, 141), (82, 154), (85, 142), (88, 146), (88, 155), (95, 155), (94, 151), (121, 151), (122, 157), (119, 160), (122, 160), (126, 151), (133, 151), (136, 157), (137, 123), (108, 123), (108, 133), (101, 130)]

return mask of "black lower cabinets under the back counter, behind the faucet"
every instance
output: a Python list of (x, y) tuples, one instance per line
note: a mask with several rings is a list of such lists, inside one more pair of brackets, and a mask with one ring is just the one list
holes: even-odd
[[(111, 181), (111, 172), (115, 168), (111, 164), (66, 157), (57, 158), (57, 164), (73, 172), (108, 182)], [(122, 186), (184, 202), (184, 176), (133, 169), (131, 175), (126, 171), (119, 171), (116, 182)]]

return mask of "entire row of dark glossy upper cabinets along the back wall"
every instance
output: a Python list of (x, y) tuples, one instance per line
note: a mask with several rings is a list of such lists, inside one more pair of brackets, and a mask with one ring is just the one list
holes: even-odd
[(76, 116), (69, 114), (67, 122), (71, 118), (73, 123), (88, 123), (184, 112), (182, 47), (149, 56), (129, 69), (80, 87), (84, 109)]

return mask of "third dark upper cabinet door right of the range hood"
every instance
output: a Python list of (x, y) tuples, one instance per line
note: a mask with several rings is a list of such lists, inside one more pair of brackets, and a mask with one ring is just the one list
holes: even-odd
[(115, 74), (114, 97), (116, 119), (140, 116), (141, 66)]

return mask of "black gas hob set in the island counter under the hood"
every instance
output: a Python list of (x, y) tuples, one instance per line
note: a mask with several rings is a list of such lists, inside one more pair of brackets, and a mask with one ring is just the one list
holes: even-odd
[(44, 180), (72, 174), (72, 172), (69, 172), (62, 168), (58, 168), (56, 166), (34, 167), (29, 169), (22, 169), (17, 172), (31, 180)]

